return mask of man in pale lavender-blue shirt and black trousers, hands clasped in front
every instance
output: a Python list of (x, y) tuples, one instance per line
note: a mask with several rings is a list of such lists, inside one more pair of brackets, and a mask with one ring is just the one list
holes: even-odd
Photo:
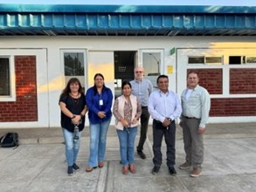
[(158, 173), (163, 156), (161, 152), (161, 145), (163, 135), (167, 147), (167, 167), (170, 175), (176, 175), (174, 168), (176, 159), (176, 123), (175, 120), (180, 117), (182, 113), (182, 106), (180, 99), (176, 93), (170, 91), (169, 79), (166, 75), (160, 75), (157, 78), (158, 90), (154, 91), (149, 96), (149, 113), (153, 120), (153, 152), (154, 152), (154, 168), (152, 174)]

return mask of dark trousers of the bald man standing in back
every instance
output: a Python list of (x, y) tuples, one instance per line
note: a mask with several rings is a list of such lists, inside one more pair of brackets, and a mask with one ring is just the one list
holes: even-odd
[(142, 106), (142, 115), (141, 115), (141, 135), (140, 141), (137, 146), (137, 151), (142, 151), (144, 143), (147, 139), (148, 126), (149, 126), (149, 111), (147, 106)]

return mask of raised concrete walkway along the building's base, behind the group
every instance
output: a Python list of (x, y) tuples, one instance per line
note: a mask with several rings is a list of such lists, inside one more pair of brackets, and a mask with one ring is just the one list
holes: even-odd
[[(7, 132), (17, 132), (19, 143), (25, 144), (58, 144), (64, 141), (60, 127), (39, 127), (39, 128), (0, 128), (0, 135)], [(140, 130), (138, 130), (138, 135)], [(82, 137), (89, 138), (89, 127), (85, 127)], [(116, 130), (110, 126), (107, 137), (116, 137)], [(255, 138), (256, 122), (251, 123), (221, 123), (209, 124), (206, 127), (204, 139), (234, 139), (234, 138)], [(149, 141), (152, 141), (152, 126), (149, 126)], [(183, 139), (182, 128), (176, 126), (176, 140)], [(88, 139), (86, 139), (88, 140)]]

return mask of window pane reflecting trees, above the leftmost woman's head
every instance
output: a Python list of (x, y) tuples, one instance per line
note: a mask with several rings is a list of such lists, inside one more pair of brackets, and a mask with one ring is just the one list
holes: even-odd
[(65, 76), (84, 76), (84, 53), (82, 52), (65, 52)]

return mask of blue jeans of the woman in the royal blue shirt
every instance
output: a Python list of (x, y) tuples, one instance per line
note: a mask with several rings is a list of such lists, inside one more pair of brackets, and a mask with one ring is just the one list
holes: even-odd
[(90, 123), (90, 157), (88, 166), (91, 168), (98, 166), (98, 163), (104, 160), (110, 120), (99, 124)]

